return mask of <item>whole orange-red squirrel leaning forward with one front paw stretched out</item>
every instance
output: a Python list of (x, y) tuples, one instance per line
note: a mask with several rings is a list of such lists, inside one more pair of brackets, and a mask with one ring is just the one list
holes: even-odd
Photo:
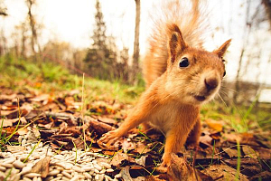
[(188, 137), (199, 144), (200, 108), (220, 90), (226, 74), (222, 57), (231, 41), (212, 52), (204, 50), (199, 1), (192, 0), (190, 9), (182, 3), (167, 3), (163, 18), (155, 22), (143, 62), (145, 92), (124, 123), (100, 138), (113, 144), (139, 124), (145, 130), (158, 129), (165, 136), (162, 167), (170, 165), (171, 154), (179, 152)]

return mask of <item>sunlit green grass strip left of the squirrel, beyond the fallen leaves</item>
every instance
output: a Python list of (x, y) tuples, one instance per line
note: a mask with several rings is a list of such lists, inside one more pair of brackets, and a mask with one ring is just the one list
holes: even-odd
[[(43, 62), (42, 65), (11, 55), (0, 57), (0, 85), (14, 90), (20, 87), (28, 90), (55, 92), (59, 90), (81, 90), (83, 76), (70, 74), (69, 71), (53, 62)], [(85, 78), (86, 101), (118, 100), (123, 103), (134, 102), (145, 88), (129, 86), (119, 81), (101, 81)]]

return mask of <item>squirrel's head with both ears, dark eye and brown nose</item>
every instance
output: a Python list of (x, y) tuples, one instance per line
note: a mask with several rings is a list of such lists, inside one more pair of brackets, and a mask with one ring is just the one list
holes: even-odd
[(169, 36), (165, 88), (182, 103), (200, 105), (214, 98), (226, 74), (223, 55), (231, 40), (213, 52), (190, 47), (177, 25)]

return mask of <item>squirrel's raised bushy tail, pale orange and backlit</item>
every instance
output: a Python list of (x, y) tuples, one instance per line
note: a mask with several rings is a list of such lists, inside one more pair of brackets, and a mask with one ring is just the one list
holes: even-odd
[(168, 37), (170, 28), (176, 24), (183, 40), (192, 47), (201, 48), (202, 34), (208, 27), (207, 11), (204, 1), (172, 0), (156, 7), (152, 15), (154, 27), (148, 39), (149, 49), (143, 62), (146, 86), (150, 86), (166, 70), (168, 53)]

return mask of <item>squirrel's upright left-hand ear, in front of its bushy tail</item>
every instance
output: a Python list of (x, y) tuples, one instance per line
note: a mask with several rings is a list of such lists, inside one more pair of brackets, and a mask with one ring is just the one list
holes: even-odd
[(171, 55), (171, 62), (174, 62), (178, 52), (182, 51), (186, 47), (182, 38), (182, 33), (179, 27), (173, 24), (172, 33), (169, 39), (169, 49)]

